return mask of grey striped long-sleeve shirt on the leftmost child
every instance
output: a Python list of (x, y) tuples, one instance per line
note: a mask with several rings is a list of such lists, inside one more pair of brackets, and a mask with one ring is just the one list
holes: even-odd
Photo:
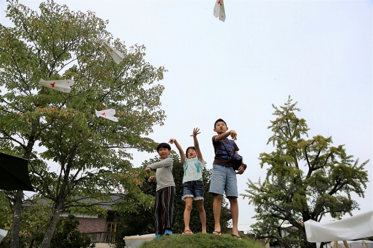
[(149, 164), (147, 169), (156, 169), (155, 179), (157, 182), (156, 191), (162, 188), (175, 186), (172, 176), (172, 158), (168, 157), (153, 164)]

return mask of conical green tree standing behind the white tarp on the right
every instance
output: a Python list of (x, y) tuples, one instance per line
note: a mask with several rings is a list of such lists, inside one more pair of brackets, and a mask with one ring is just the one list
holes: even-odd
[(364, 197), (369, 160), (354, 161), (343, 145), (332, 146), (332, 137), (307, 139), (309, 128), (295, 115), (300, 111), (296, 104), (289, 96), (284, 106), (272, 105), (277, 117), (268, 127), (273, 135), (267, 144), (272, 142), (275, 150), (260, 154), (261, 168), (269, 166), (267, 176), (263, 182), (249, 180), (243, 196), (255, 206), (258, 222), (252, 228), (258, 237), (285, 247), (316, 247), (300, 222), (320, 221), (327, 214), (340, 218), (359, 209), (351, 194)]

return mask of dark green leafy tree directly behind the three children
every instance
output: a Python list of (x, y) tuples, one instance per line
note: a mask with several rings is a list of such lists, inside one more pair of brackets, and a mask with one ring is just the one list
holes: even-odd
[[(176, 196), (174, 202), (174, 221), (173, 221), (173, 232), (182, 233), (184, 231), (184, 209), (185, 202), (181, 200), (183, 185), (182, 178), (184, 175), (183, 164), (181, 158), (175, 154), (171, 153), (170, 157), (173, 158), (173, 176), (175, 181)], [(130, 190), (130, 194), (123, 199), (123, 201), (131, 202), (135, 207), (129, 211), (129, 208), (122, 209), (120, 206), (117, 209), (118, 218), (117, 221), (119, 225), (117, 227), (116, 240), (122, 240), (124, 236), (131, 235), (143, 235), (148, 233), (154, 233), (154, 195), (155, 195), (155, 183), (149, 183), (147, 181), (148, 177), (145, 174), (145, 167), (148, 164), (159, 161), (158, 157), (150, 159), (150, 161), (144, 161), (143, 166), (138, 168), (137, 175), (138, 179), (142, 182), (138, 184), (138, 189), (148, 194), (150, 196), (150, 201), (145, 204), (144, 202), (139, 203), (136, 197), (135, 190)], [(203, 169), (203, 183), (204, 183), (204, 208), (206, 211), (206, 230), (208, 233), (214, 231), (214, 214), (213, 214), (213, 202), (214, 197), (212, 194), (208, 193), (211, 169)], [(223, 201), (223, 206), (221, 209), (221, 222), (222, 222), (222, 232), (225, 233), (228, 230), (228, 220), (231, 219), (229, 208), (227, 208), (227, 202)], [(193, 209), (191, 212), (190, 227), (193, 232), (201, 232), (201, 221), (199, 219), (199, 213), (196, 204), (193, 203)], [(116, 247), (123, 247), (123, 243), (116, 244)]]

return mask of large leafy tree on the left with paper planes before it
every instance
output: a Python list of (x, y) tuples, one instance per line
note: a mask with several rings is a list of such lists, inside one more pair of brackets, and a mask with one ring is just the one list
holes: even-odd
[[(164, 87), (154, 84), (165, 69), (145, 61), (143, 45), (128, 49), (113, 40), (107, 22), (92, 12), (73, 12), (52, 0), (39, 9), (11, 1), (6, 16), (14, 27), (0, 24), (0, 148), (30, 159), (37, 193), (51, 200), (41, 243), (49, 247), (62, 209), (90, 207), (76, 196), (99, 199), (125, 192), (133, 182), (126, 176), (127, 148), (154, 147), (144, 135), (166, 117), (159, 109)], [(104, 39), (125, 55), (120, 64), (103, 48)], [(40, 79), (74, 79), (75, 85), (63, 93), (39, 87)], [(119, 122), (95, 116), (96, 109), (108, 108), (116, 110)], [(51, 169), (50, 161), (58, 168)], [(7, 197), (14, 216), (11, 247), (19, 247), (24, 194), (10, 191)]]

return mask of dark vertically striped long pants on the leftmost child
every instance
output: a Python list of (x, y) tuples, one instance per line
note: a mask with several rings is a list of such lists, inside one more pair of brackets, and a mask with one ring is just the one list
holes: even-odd
[(165, 230), (172, 230), (174, 199), (175, 186), (162, 188), (155, 192), (155, 235), (163, 235)]

